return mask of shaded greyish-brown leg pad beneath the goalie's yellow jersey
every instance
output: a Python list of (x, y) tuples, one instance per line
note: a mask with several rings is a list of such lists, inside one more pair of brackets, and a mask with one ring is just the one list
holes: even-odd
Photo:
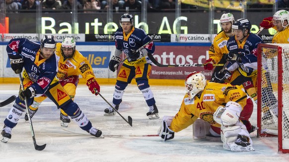
[(198, 118), (193, 123), (193, 139), (206, 139), (206, 135), (210, 134), (211, 124)]

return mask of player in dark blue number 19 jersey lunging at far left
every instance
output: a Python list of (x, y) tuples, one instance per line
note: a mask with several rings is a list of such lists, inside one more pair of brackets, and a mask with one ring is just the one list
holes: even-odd
[(16, 74), (23, 71), (24, 91), (20, 90), (19, 96), (10, 109), (1, 135), (2, 142), (11, 139), (11, 129), (16, 126), (27, 105), (33, 103), (33, 98), (46, 95), (58, 108), (62, 108), (77, 125), (95, 137), (100, 137), (102, 132), (92, 127), (91, 122), (75, 104), (65, 89), (59, 83), (56, 74), (58, 71), (57, 56), (55, 52), (56, 42), (51, 35), (44, 35), (40, 44), (28, 39), (12, 39), (7, 45), (6, 51), (10, 59), (11, 68)]

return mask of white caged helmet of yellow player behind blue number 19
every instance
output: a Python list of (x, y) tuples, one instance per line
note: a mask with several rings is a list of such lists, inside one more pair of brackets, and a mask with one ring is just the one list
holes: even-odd
[(61, 54), (64, 58), (71, 58), (75, 52), (75, 41), (73, 38), (67, 37), (61, 44)]

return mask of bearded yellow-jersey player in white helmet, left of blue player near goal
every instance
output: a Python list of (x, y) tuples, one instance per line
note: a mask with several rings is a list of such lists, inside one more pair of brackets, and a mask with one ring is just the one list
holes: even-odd
[[(228, 54), (227, 41), (233, 36), (232, 24), (234, 23), (234, 16), (231, 13), (224, 13), (220, 18), (220, 26), (222, 31), (214, 38), (213, 43), (209, 49), (209, 59), (205, 61), (205, 70), (212, 70), (216, 63), (224, 63), (224, 54)], [(220, 68), (215, 69), (219, 71)], [(214, 75), (213, 75), (214, 76)]]

